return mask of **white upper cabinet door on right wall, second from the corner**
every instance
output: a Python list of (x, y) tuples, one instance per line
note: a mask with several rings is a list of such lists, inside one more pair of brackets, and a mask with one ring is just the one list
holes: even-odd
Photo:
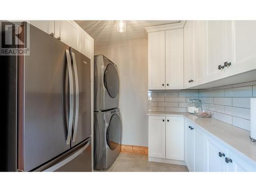
[(196, 86), (203, 81), (205, 66), (205, 22), (194, 21), (194, 76), (192, 86)]

